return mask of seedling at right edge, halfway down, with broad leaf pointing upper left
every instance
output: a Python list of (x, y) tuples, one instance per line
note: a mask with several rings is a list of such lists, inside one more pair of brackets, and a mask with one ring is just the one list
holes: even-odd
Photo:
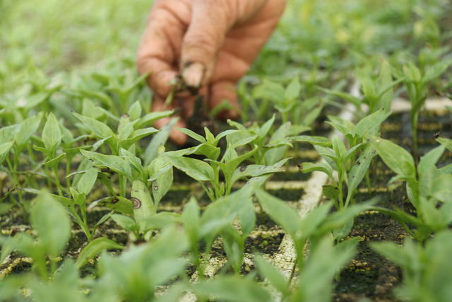
[(416, 213), (411, 215), (401, 209), (377, 209), (396, 219), (419, 242), (427, 240), (432, 233), (448, 228), (452, 222), (451, 168), (450, 165), (436, 168), (436, 162), (444, 153), (444, 146), (438, 146), (422, 156), (416, 167), (410, 153), (391, 141), (373, 138), (371, 145), (396, 173), (390, 183), (406, 182), (408, 199)]

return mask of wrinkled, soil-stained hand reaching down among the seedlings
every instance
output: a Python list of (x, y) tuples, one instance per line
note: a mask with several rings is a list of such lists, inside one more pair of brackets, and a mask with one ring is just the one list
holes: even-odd
[[(164, 100), (180, 74), (191, 89), (179, 91), (169, 106), (180, 109), (177, 127), (186, 127), (193, 114), (193, 91), (206, 96), (209, 109), (227, 100), (237, 109), (223, 110), (218, 117), (237, 118), (235, 85), (270, 37), (284, 7), (285, 0), (156, 0), (137, 59), (138, 71), (150, 74), (153, 110), (165, 110)], [(159, 120), (156, 127), (168, 121)], [(177, 129), (170, 138), (179, 145), (187, 139)]]

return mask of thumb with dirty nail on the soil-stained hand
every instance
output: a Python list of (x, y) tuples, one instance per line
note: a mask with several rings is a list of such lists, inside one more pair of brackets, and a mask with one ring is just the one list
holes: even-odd
[(182, 78), (189, 88), (205, 84), (213, 74), (225, 35), (235, 22), (230, 2), (194, 0), (191, 22), (182, 42)]

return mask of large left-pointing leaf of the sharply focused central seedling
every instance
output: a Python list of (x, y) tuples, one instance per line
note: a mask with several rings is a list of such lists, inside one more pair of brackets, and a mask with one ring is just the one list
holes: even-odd
[(174, 167), (198, 181), (213, 180), (213, 168), (203, 161), (189, 157), (165, 156)]

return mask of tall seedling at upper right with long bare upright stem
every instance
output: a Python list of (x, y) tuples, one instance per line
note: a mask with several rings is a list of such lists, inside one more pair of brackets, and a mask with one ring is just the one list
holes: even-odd
[(441, 60), (436, 64), (424, 66), (421, 70), (415, 64), (407, 64), (403, 66), (403, 71), (398, 72), (398, 77), (403, 79), (405, 88), (408, 94), (408, 100), (410, 100), (410, 121), (411, 121), (411, 134), (412, 134), (412, 153), (415, 156), (417, 163), (418, 151), (417, 151), (417, 120), (419, 118), (419, 112), (427, 100), (429, 85), (435, 79), (439, 78), (441, 74), (452, 65), (452, 59)]

